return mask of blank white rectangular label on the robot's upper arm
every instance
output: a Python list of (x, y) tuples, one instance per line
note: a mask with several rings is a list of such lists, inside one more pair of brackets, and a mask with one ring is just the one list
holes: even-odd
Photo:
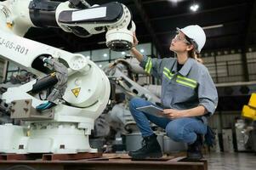
[(88, 8), (72, 13), (72, 21), (97, 19), (106, 16), (106, 7)]

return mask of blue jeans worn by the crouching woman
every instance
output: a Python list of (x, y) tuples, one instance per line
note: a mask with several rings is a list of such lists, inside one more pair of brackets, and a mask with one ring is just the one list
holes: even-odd
[(150, 122), (153, 122), (157, 126), (165, 129), (168, 137), (176, 142), (192, 144), (196, 141), (197, 133), (207, 133), (207, 125), (196, 117), (182, 117), (171, 120), (165, 117), (152, 116), (145, 112), (136, 110), (137, 107), (146, 105), (154, 104), (139, 98), (131, 99), (129, 104), (130, 111), (132, 116), (134, 116), (134, 120), (139, 127), (142, 137), (153, 134)]

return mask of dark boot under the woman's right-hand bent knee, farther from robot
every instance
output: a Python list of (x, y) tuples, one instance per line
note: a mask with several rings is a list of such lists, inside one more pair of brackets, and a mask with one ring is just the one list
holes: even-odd
[(196, 141), (188, 145), (187, 160), (198, 161), (202, 159), (202, 135), (197, 134)]

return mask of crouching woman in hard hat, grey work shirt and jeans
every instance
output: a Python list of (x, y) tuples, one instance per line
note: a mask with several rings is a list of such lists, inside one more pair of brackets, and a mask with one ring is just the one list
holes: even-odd
[(218, 94), (208, 69), (196, 57), (206, 41), (202, 27), (186, 26), (177, 31), (169, 48), (177, 58), (151, 59), (140, 54), (135, 48), (138, 40), (134, 35), (132, 54), (148, 74), (162, 80), (162, 114), (166, 118), (136, 110), (153, 104), (144, 99), (131, 99), (130, 111), (143, 137), (142, 148), (129, 152), (133, 158), (162, 156), (150, 122), (165, 129), (174, 141), (187, 143), (189, 159), (202, 158), (202, 135), (208, 131), (207, 118), (217, 107)]

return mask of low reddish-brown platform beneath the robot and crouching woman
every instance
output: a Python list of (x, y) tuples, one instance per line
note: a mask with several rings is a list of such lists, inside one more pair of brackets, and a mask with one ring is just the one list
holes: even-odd
[[(46, 154), (47, 155), (47, 154)], [(49, 154), (51, 155), (51, 154)], [(88, 157), (86, 154), (79, 156), (62, 155), (59, 157), (56, 154), (51, 156), (47, 155), (46, 158), (41, 157), (40, 160), (23, 160), (22, 155), (19, 157), (14, 157), (13, 155), (1, 155), (4, 157), (5, 161), (0, 161), (0, 169), (22, 169), (26, 166), (26, 169), (37, 169), (37, 170), (81, 170), (86, 167), (86, 169), (94, 170), (169, 170), (169, 169), (179, 169), (179, 170), (208, 170), (207, 160), (200, 161), (185, 161), (185, 156), (163, 156), (159, 159), (143, 159), (143, 160), (133, 160), (128, 155), (94, 155)], [(23, 155), (24, 156), (24, 155)], [(48, 157), (49, 156), (49, 157)], [(85, 158), (87, 156), (87, 158)], [(100, 156), (100, 157), (96, 157)], [(77, 159), (80, 157), (81, 159)], [(20, 160), (14, 160), (14, 158), (19, 158)], [(60, 161), (61, 159), (61, 161)]]

